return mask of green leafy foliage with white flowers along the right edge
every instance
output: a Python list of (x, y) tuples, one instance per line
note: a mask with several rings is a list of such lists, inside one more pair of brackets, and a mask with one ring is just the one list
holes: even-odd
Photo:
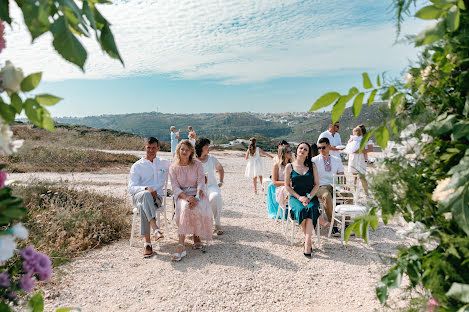
[[(381, 86), (377, 80), (373, 89), (363, 74), (365, 90), (358, 95), (372, 90), (368, 104), (379, 95), (388, 105), (381, 124), (362, 143), (374, 134), (385, 148), (392, 134), (400, 137), (393, 138), (394, 149), (386, 150), (379, 171), (369, 177), (370, 215), (356, 218), (345, 235), (348, 238), (354, 231), (367, 240), (378, 211), (384, 223), (395, 215), (412, 222), (409, 235), (418, 243), (401, 249), (376, 288), (378, 299), (386, 303), (388, 292), (400, 287), (406, 275), (412, 288), (423, 287), (438, 301), (439, 310), (465, 311), (469, 307), (469, 15), (467, 1), (429, 2), (416, 16), (435, 22), (414, 39), (423, 50), (419, 64), (408, 69), (406, 83)], [(398, 25), (411, 4), (417, 1), (395, 1)]]

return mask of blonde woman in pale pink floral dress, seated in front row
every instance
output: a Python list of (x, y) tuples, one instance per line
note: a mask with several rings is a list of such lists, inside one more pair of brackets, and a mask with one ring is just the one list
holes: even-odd
[(169, 175), (176, 198), (175, 218), (179, 235), (173, 260), (180, 261), (186, 256), (186, 235), (194, 235), (195, 249), (202, 248), (201, 239), (212, 239), (213, 214), (205, 194), (204, 170), (202, 163), (195, 158), (195, 149), (189, 140), (179, 142)]

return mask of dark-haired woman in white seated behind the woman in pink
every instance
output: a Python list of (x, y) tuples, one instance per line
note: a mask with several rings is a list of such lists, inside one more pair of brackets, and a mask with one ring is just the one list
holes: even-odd
[[(223, 166), (220, 164), (218, 159), (209, 155), (210, 153), (210, 140), (207, 138), (198, 138), (195, 142), (195, 153), (197, 158), (202, 163), (204, 167), (204, 174), (207, 180), (207, 196), (210, 202), (210, 206), (213, 211), (213, 220), (215, 221), (215, 230), (214, 232), (217, 235), (222, 235), (223, 231), (221, 230), (221, 209), (223, 201), (221, 198), (221, 187), (224, 182), (225, 171)], [(218, 172), (218, 181), (215, 177), (215, 171)]]

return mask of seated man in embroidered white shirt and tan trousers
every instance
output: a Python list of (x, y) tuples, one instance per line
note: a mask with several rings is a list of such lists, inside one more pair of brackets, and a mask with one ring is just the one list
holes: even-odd
[(340, 234), (339, 229), (332, 222), (332, 176), (334, 174), (344, 174), (344, 166), (339, 157), (329, 154), (330, 143), (328, 138), (321, 138), (318, 141), (319, 155), (313, 157), (312, 161), (316, 164), (319, 175), (319, 191), (318, 199), (322, 202), (322, 206), (326, 211), (327, 218), (331, 222), (332, 234), (334, 236)]

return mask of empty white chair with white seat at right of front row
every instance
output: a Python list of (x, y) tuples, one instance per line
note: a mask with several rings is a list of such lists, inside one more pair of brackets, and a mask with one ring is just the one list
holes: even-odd
[(368, 209), (358, 203), (362, 187), (360, 178), (356, 175), (334, 174), (332, 192), (332, 220), (329, 237), (331, 236), (334, 222), (340, 223), (342, 226), (340, 243), (343, 245), (346, 223), (351, 224), (354, 217), (365, 215)]

